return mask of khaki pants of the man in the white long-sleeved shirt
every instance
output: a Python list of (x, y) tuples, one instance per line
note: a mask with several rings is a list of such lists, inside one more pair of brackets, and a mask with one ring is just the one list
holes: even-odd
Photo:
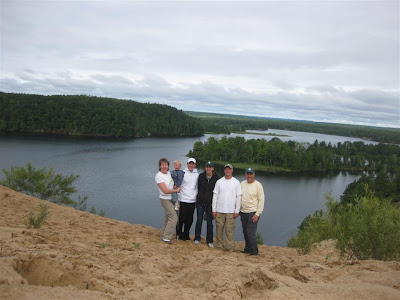
[[(235, 245), (235, 219), (233, 214), (223, 214), (217, 212), (217, 218), (215, 219), (215, 225), (217, 227), (215, 234), (215, 247), (225, 248), (228, 251), (234, 251)], [(223, 239), (225, 229), (225, 243)]]

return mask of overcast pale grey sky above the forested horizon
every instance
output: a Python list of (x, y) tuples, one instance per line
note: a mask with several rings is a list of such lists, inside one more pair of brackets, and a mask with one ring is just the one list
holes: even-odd
[(0, 2), (4, 92), (400, 127), (399, 0)]

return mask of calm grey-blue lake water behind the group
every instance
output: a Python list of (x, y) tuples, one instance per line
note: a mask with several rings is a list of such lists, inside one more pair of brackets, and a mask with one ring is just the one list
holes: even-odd
[[(310, 143), (315, 139), (332, 143), (360, 140), (281, 130), (279, 133), (290, 135), (291, 140), (296, 140), (298, 135), (298, 141)], [(164, 212), (154, 182), (158, 159), (167, 157), (170, 161), (180, 159), (185, 162), (185, 155), (194, 142), (204, 141), (209, 136), (126, 140), (0, 136), (0, 169), (24, 166), (31, 161), (36, 168), (53, 167), (56, 173), (79, 174), (78, 195), (88, 196), (89, 207), (93, 204), (97, 210), (105, 210), (106, 217), (160, 228)], [(252, 134), (241, 136), (263, 138)], [(202, 167), (198, 169), (203, 171)], [(234, 176), (244, 180), (242, 171), (235, 170)], [(332, 192), (339, 198), (346, 186), (358, 177), (348, 173), (323, 176), (257, 173), (256, 179), (266, 192), (265, 210), (258, 227), (264, 243), (285, 246), (305, 216), (324, 208), (325, 193)], [(4, 173), (1, 172), (0, 178), (4, 178)], [(237, 240), (243, 240), (240, 221), (236, 223), (235, 236)]]

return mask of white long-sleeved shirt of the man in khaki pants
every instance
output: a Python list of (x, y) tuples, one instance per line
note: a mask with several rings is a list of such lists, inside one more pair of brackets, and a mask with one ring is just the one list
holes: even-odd
[(242, 187), (235, 177), (218, 179), (214, 188), (212, 211), (223, 214), (239, 213)]

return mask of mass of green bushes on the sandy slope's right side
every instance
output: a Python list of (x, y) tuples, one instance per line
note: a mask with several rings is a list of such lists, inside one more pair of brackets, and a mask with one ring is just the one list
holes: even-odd
[(400, 260), (400, 207), (365, 188), (365, 196), (353, 203), (340, 204), (328, 195), (327, 211), (307, 217), (288, 246), (308, 253), (315, 243), (332, 238), (349, 259)]

